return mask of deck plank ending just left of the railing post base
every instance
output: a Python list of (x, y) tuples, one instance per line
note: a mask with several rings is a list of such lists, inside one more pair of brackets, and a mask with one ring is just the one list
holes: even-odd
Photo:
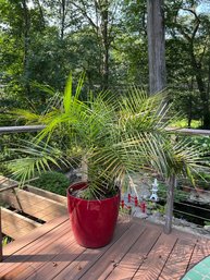
[(151, 230), (147, 227), (137, 242), (132, 246), (123, 259), (116, 264), (111, 275), (106, 279), (132, 279), (138, 267), (143, 264), (145, 257), (156, 244), (160, 234), (160, 230), (157, 230), (156, 228)]

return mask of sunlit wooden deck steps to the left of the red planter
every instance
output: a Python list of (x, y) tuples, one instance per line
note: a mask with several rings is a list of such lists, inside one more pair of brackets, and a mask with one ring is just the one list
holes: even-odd
[[(0, 176), (0, 190), (16, 183)], [(2, 233), (16, 240), (42, 223), (66, 215), (66, 198), (26, 185), (0, 192)]]

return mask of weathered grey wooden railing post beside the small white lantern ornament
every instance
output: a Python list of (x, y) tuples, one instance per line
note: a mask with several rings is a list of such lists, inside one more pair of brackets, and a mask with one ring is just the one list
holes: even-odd
[(166, 210), (165, 210), (165, 226), (164, 226), (164, 233), (166, 234), (170, 234), (172, 231), (175, 183), (176, 183), (175, 175), (172, 175), (169, 179), (169, 186), (168, 186), (168, 193), (166, 193)]

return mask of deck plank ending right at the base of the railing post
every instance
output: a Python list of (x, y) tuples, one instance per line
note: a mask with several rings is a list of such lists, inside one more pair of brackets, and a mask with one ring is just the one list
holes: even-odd
[(176, 241), (177, 239), (173, 235), (162, 233), (133, 279), (158, 279)]

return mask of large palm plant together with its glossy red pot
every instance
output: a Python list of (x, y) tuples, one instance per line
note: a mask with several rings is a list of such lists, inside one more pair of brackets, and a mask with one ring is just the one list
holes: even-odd
[(84, 76), (73, 90), (70, 75), (63, 97), (41, 115), (15, 111), (30, 124), (41, 123), (46, 127), (18, 147), (25, 156), (9, 166), (24, 181), (52, 165), (82, 162), (83, 182), (67, 188), (72, 228), (81, 245), (100, 247), (112, 239), (120, 190), (126, 175), (147, 169), (164, 176), (170, 166), (175, 172), (176, 167), (183, 165), (183, 172), (190, 176), (193, 158), (198, 162), (198, 149), (187, 156), (186, 145), (183, 154), (178, 145), (177, 153), (172, 153), (174, 144), (165, 131), (169, 107), (163, 94), (148, 97), (132, 88), (126, 95), (89, 93), (84, 101), (81, 99), (83, 83)]

